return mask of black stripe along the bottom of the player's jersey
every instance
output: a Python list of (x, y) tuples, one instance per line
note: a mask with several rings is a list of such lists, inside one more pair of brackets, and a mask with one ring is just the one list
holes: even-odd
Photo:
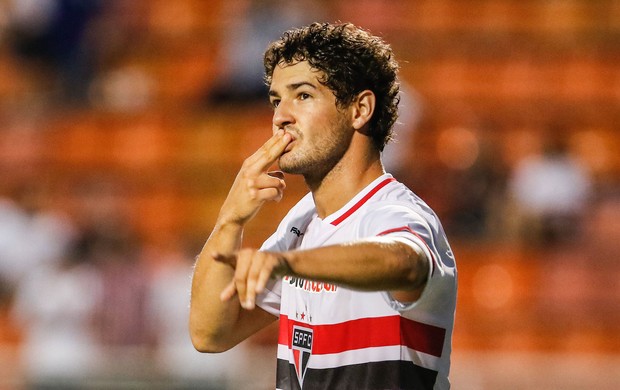
[[(402, 360), (371, 362), (349, 366), (312, 369), (304, 376), (303, 390), (432, 390), (437, 371)], [(295, 366), (278, 359), (276, 387), (301, 390)]]

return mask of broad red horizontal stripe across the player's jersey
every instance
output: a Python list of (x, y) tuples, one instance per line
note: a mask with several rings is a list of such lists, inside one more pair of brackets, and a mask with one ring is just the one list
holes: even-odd
[(340, 353), (370, 347), (402, 345), (441, 357), (446, 330), (401, 316), (361, 318), (329, 325), (309, 325), (280, 315), (278, 343), (292, 348), (293, 326), (313, 330), (312, 354)]

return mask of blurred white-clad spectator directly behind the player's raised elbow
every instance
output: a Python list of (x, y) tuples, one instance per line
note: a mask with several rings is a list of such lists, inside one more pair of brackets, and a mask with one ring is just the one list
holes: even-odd
[[(267, 346), (250, 340), (218, 354), (201, 354), (194, 349), (187, 326), (192, 268), (198, 249), (187, 248), (180, 241), (169, 237), (143, 252), (154, 265), (148, 321), (153, 324), (157, 344), (157, 372), (175, 383), (176, 388), (273, 388), (275, 339), (270, 339)], [(277, 328), (272, 332), (277, 334)]]

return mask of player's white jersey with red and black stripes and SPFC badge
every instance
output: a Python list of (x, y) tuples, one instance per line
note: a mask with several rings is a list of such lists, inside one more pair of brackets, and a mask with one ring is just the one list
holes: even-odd
[(261, 308), (280, 318), (278, 389), (450, 387), (454, 257), (434, 212), (391, 175), (324, 219), (306, 195), (261, 250), (310, 249), (382, 235), (408, 240), (429, 259), (428, 281), (416, 302), (295, 277), (272, 281), (258, 297)]

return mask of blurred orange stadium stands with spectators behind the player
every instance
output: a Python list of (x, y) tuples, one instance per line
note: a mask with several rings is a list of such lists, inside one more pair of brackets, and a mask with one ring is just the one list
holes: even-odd
[(0, 0), (0, 389), (273, 388), (275, 328), (192, 349), (191, 267), (270, 134), (265, 46), (335, 20), (401, 62), (385, 162), (456, 254), (454, 388), (620, 388), (620, 2)]

